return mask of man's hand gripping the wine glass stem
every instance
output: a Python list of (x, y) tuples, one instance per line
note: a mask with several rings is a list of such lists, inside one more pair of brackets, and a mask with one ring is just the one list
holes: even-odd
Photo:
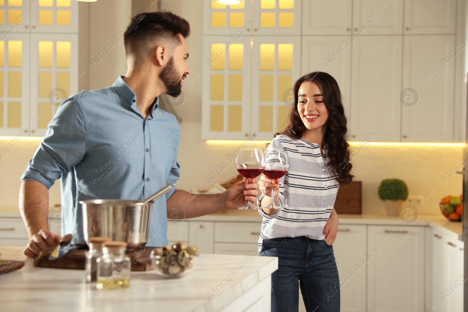
[(221, 194), (219, 204), (223, 205), (226, 209), (237, 209), (247, 205), (247, 202), (256, 202), (258, 196), (258, 184), (256, 179), (250, 179), (250, 183), (241, 181), (233, 187), (227, 189)]

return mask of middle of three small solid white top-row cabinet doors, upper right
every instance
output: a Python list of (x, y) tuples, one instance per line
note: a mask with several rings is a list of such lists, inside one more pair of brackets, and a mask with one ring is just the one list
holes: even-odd
[[(373, 19), (374, 12), (378, 17)], [(354, 0), (353, 13), (353, 32), (362, 27), (364, 36), (402, 34), (403, 0)]]

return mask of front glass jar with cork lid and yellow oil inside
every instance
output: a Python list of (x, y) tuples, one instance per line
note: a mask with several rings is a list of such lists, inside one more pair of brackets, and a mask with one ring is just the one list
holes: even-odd
[(115, 289), (130, 286), (130, 258), (125, 255), (127, 243), (108, 241), (102, 248), (101, 259), (97, 259), (97, 289)]

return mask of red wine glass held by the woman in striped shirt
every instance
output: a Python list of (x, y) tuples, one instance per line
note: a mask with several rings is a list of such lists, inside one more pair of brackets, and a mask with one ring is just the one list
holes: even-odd
[[(273, 180), (277, 180), (281, 178), (283, 175), (288, 172), (289, 168), (289, 160), (288, 160), (288, 154), (286, 154), (285, 151), (279, 148), (271, 148), (266, 151), (265, 155), (265, 170), (263, 170), (263, 174)], [(272, 189), (271, 190), (271, 203), (263, 208), (270, 208), (270, 209), (279, 209), (275, 204), (275, 191)], [(279, 196), (279, 190), (278, 190), (278, 196)]]

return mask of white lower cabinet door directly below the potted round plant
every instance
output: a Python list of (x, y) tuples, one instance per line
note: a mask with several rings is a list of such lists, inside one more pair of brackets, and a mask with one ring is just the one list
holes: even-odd
[(424, 228), (368, 225), (367, 311), (424, 311)]

